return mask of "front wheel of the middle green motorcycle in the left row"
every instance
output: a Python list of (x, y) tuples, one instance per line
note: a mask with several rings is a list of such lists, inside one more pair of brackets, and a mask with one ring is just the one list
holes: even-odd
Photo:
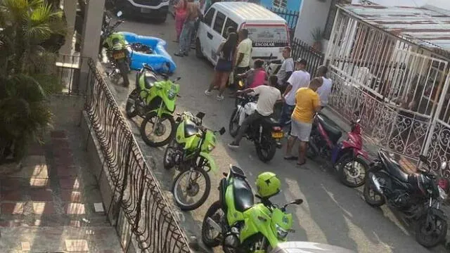
[[(202, 179), (204, 183), (202, 183)], [(185, 186), (183, 182), (185, 182)], [(202, 189), (204, 190), (203, 194), (201, 193)], [(210, 176), (203, 168), (181, 171), (172, 186), (176, 205), (183, 211), (191, 211), (203, 205), (210, 195), (210, 190)]]

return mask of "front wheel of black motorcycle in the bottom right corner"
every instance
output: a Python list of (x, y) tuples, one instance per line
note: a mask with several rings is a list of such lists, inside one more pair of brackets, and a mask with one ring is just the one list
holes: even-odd
[(437, 215), (429, 215), (429, 221), (427, 215), (424, 215), (416, 223), (416, 240), (428, 248), (437, 246), (447, 235), (447, 221)]

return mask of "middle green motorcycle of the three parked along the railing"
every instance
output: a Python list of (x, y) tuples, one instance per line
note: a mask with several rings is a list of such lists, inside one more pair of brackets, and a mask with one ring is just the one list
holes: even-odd
[(210, 153), (216, 147), (217, 134), (224, 134), (225, 128), (219, 131), (205, 128), (202, 126), (204, 116), (203, 112), (195, 116), (191, 112), (179, 115), (176, 136), (164, 154), (165, 169), (175, 167), (180, 171), (174, 179), (172, 193), (176, 205), (184, 211), (197, 209), (205, 202), (211, 189), (208, 172), (217, 171)]

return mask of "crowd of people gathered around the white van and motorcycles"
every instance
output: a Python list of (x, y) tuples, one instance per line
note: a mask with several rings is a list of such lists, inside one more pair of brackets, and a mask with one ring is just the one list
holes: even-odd
[[(212, 4), (212, 2), (210, 3)], [(207, 9), (205, 0), (180, 0), (176, 6), (176, 38), (179, 41), (179, 52), (175, 56), (188, 56), (195, 30), (196, 22)], [(253, 93), (259, 95), (257, 108), (253, 115), (245, 119), (240, 126), (238, 134), (230, 148), (238, 148), (247, 127), (257, 119), (271, 117), (274, 114), (276, 103), (283, 103), (280, 117), (281, 126), (290, 126), (288, 144), (285, 150), (285, 160), (297, 160), (297, 165), (306, 162), (307, 143), (311, 134), (314, 114), (328, 104), (328, 96), (332, 89), (332, 81), (326, 77), (328, 68), (320, 66), (316, 77), (311, 79), (307, 72), (307, 60), (293, 60), (291, 48), (283, 48), (283, 62), (274, 76), (270, 76), (264, 69), (263, 60), (255, 60), (250, 68), (252, 59), (252, 40), (248, 30), (239, 32), (234, 27), (227, 27), (226, 39), (217, 48), (217, 64), (214, 68), (214, 77), (205, 91), (211, 96), (214, 89), (218, 90), (217, 100), (224, 100), (227, 84), (236, 89), (236, 82), (245, 80), (243, 91), (231, 91), (231, 95), (240, 93)], [(298, 155), (292, 150), (297, 141), (300, 141)]]

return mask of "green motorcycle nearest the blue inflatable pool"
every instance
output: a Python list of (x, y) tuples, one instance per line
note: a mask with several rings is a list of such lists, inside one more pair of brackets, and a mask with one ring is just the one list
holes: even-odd
[(181, 78), (171, 81), (167, 74), (160, 75), (164, 80), (158, 81), (153, 69), (144, 64), (136, 74), (136, 89), (131, 91), (125, 105), (127, 117), (143, 118), (141, 136), (150, 147), (166, 145), (175, 134), (173, 113), (180, 91), (175, 82)]

